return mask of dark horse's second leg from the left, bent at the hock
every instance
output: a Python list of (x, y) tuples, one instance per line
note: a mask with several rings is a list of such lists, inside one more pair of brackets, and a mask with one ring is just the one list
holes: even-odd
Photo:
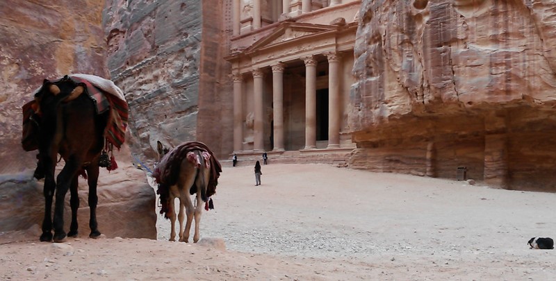
[(70, 189), (70, 183), (77, 173), (77, 169), (81, 167), (81, 161), (77, 160), (74, 155), (65, 163), (64, 168), (56, 178), (56, 203), (54, 203), (54, 242), (63, 242), (66, 237), (64, 231), (64, 201), (67, 189)]

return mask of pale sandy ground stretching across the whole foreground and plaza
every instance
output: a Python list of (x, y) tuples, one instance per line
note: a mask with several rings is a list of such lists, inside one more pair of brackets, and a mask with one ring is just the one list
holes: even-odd
[[(0, 235), (0, 280), (556, 280), (556, 194), (320, 164), (224, 167), (201, 237)], [(99, 221), (102, 230), (102, 222)], [(10, 235), (12, 239), (10, 239)], [(193, 236), (193, 235), (192, 235)]]

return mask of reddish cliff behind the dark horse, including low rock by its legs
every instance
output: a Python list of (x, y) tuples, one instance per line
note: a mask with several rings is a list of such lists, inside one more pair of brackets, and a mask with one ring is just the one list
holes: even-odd
[[(43, 182), (31, 178), (37, 151), (25, 152), (20, 143), (22, 105), (33, 99), (33, 90), (44, 78), (72, 73), (109, 78), (103, 7), (104, 0), (0, 1), (1, 232), (33, 227), (44, 214)], [(108, 237), (156, 238), (154, 191), (144, 173), (133, 168), (126, 146), (115, 154), (120, 169), (102, 169), (99, 178), (100, 230)], [(85, 189), (80, 194), (80, 233), (86, 237), (87, 185), (82, 179), (80, 188)], [(65, 219), (69, 218), (67, 213)]]

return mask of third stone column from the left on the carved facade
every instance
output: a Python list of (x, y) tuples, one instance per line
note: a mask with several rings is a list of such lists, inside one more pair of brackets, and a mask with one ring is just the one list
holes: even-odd
[(272, 65), (273, 151), (284, 151), (284, 64)]

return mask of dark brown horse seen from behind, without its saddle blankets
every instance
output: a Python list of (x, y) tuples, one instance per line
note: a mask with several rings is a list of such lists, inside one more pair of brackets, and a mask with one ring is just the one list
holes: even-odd
[[(44, 171), (44, 220), (40, 241), (52, 241), (54, 221), (54, 241), (61, 242), (68, 235), (77, 236), (77, 194), (78, 176), (86, 171), (89, 185), (88, 203), (90, 207), (91, 229), (89, 237), (101, 235), (97, 227), (97, 180), (99, 178), (99, 156), (104, 147), (104, 130), (109, 113), (97, 114), (95, 103), (86, 93), (83, 83), (76, 83), (64, 76), (60, 80), (44, 80), (35, 94), (39, 165)], [(83, 94), (83, 92), (85, 92)], [(65, 166), (54, 180), (57, 155), (60, 154)], [(64, 231), (64, 201), (70, 189), (72, 223), (70, 232)], [(54, 219), (52, 219), (52, 199), (56, 191)]]

